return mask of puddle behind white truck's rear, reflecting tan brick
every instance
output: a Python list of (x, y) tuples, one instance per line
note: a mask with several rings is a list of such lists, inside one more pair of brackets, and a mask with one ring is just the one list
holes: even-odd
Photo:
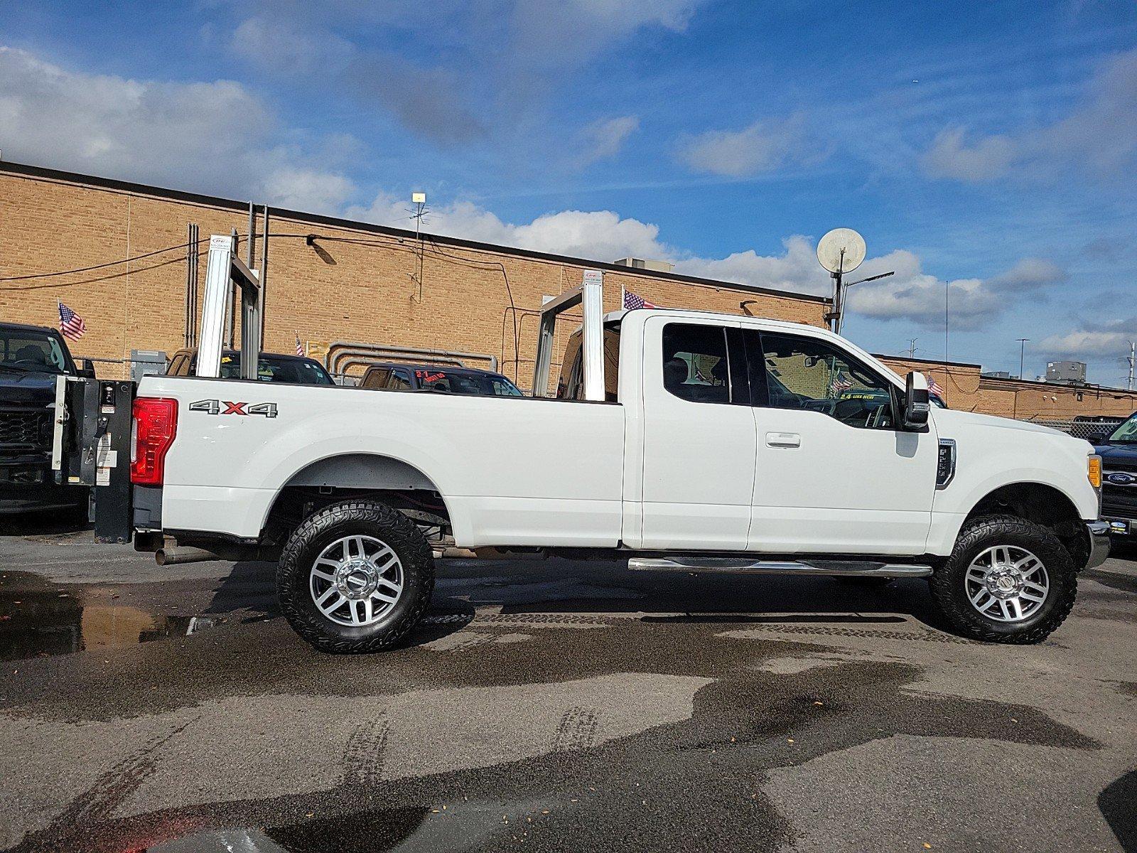
[(25, 572), (0, 575), (0, 661), (136, 646), (224, 621), (158, 613), (121, 602), (106, 587), (51, 585)]

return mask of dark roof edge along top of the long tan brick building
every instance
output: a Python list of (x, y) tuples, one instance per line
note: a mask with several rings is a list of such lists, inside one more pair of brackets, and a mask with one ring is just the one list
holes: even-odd
[[(99, 175), (85, 175), (78, 172), (65, 172), (61, 169), (47, 168), (44, 166), (31, 166), (25, 163), (0, 162), (0, 173), (23, 175), (26, 177), (42, 177), (52, 181), (64, 181), (67, 183), (88, 184), (98, 189), (117, 190), (119, 192), (134, 192), (158, 198), (168, 198), (175, 201), (186, 201), (197, 205), (208, 205), (221, 207), (234, 212), (249, 209), (248, 201), (223, 198), (221, 196), (206, 196), (199, 192), (186, 192), (184, 190), (172, 190), (165, 187), (153, 187), (151, 184), (135, 183), (133, 181), (121, 181), (114, 177), (100, 177)], [(366, 231), (374, 234), (383, 234), (397, 239), (416, 239), (414, 231), (396, 229), (389, 225), (375, 225), (370, 222), (358, 220), (346, 220), (338, 216), (324, 216), (322, 214), (305, 213), (304, 210), (291, 210), (285, 207), (268, 206), (268, 212), (273, 216), (293, 220), (297, 222), (308, 222), (313, 225), (326, 225), (330, 227), (350, 229), (354, 231)], [(442, 234), (431, 234), (423, 232), (424, 238), (435, 243), (443, 243), (462, 249), (475, 249), (479, 251), (492, 251), (499, 255), (513, 255), (516, 257), (532, 258), (536, 260), (549, 260), (557, 264), (571, 264), (595, 270), (606, 270), (622, 275), (638, 275), (645, 279), (662, 279), (665, 281), (677, 281), (688, 284), (702, 284), (712, 288), (727, 288), (747, 293), (762, 293), (764, 296), (775, 296), (783, 299), (800, 299), (810, 303), (829, 301), (823, 296), (812, 293), (797, 293), (789, 290), (775, 290), (773, 288), (762, 288), (755, 284), (742, 284), (733, 281), (721, 281), (717, 279), (704, 279), (697, 275), (684, 275), (682, 273), (659, 272), (654, 270), (637, 270), (631, 266), (621, 266), (605, 260), (594, 260), (591, 258), (579, 258), (571, 255), (554, 255), (551, 252), (532, 251), (520, 249), (514, 246), (499, 246), (497, 243), (485, 243), (476, 240), (464, 240), (457, 237), (445, 237)]]

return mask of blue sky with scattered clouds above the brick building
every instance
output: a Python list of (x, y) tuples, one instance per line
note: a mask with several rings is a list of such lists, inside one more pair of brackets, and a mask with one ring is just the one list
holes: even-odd
[(0, 0), (0, 151), (810, 293), (853, 227), (871, 351), (1137, 340), (1131, 0)]

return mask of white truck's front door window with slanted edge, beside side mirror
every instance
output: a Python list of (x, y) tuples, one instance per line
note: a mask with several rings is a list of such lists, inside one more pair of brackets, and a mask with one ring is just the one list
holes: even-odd
[(762, 333), (769, 405), (835, 417), (849, 426), (891, 429), (891, 386), (816, 338)]

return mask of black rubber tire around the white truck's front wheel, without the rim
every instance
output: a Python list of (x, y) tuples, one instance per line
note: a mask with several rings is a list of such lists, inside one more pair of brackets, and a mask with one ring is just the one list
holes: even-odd
[[(988, 619), (968, 598), (968, 566), (985, 549), (996, 545), (1026, 548), (1043, 562), (1049, 575), (1046, 599), (1021, 622)], [(1078, 572), (1070, 552), (1049, 529), (1014, 515), (986, 515), (969, 521), (960, 531), (952, 555), (928, 582), (951, 628), (964, 637), (987, 643), (1041, 643), (1070, 615), (1078, 595)]]

